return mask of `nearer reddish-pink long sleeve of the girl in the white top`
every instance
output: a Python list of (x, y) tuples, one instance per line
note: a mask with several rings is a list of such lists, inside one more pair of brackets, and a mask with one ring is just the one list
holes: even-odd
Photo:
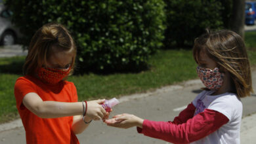
[(191, 143), (218, 130), (228, 122), (228, 118), (217, 111), (205, 109), (202, 113), (182, 122), (180, 119), (175, 122), (144, 120), (142, 129), (137, 127), (137, 131), (171, 143)]

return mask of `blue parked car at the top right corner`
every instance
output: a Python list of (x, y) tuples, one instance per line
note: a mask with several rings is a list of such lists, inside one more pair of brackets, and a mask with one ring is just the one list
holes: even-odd
[(256, 19), (256, 2), (245, 2), (245, 24), (254, 25)]

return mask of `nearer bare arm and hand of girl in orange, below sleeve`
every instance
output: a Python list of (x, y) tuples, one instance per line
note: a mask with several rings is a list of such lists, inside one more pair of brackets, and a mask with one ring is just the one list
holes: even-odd
[[(88, 101), (87, 116), (94, 120), (103, 118), (106, 115), (106, 111), (100, 105), (102, 102), (104, 102), (104, 99)], [(35, 92), (26, 94), (22, 103), (32, 113), (41, 118), (58, 118), (83, 114), (82, 102), (43, 101)]]

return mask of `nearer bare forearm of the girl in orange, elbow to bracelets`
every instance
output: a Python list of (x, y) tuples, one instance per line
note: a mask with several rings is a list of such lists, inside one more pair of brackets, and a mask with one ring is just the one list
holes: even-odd
[(41, 118), (58, 118), (74, 115), (82, 115), (83, 105), (81, 102), (58, 102), (58, 101), (41, 101), (33, 109), (33, 113)]

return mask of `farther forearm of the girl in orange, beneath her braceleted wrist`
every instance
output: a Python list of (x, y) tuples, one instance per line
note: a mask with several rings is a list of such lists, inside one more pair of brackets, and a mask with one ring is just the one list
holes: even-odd
[[(85, 116), (85, 122), (90, 122), (91, 120), (91, 118)], [(90, 123), (85, 124), (85, 122), (83, 121), (83, 117), (81, 115), (74, 116), (74, 121), (72, 124), (74, 134), (81, 134), (89, 126)]]

